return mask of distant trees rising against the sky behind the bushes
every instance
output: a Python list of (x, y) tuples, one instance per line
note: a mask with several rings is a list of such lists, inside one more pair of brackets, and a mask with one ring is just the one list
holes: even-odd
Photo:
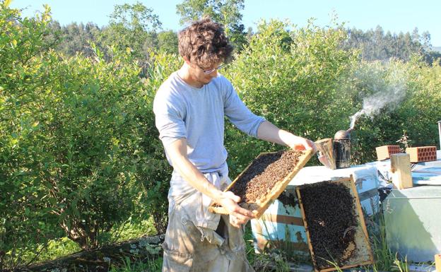
[[(182, 25), (203, 16), (225, 25), (225, 30), (237, 51), (242, 50), (254, 33), (252, 28), (245, 31), (242, 24), (242, 11), (245, 2), (240, 0), (192, 0), (182, 1), (177, 5)], [(110, 24), (98, 28), (93, 23), (71, 23), (59, 25), (57, 21), (49, 23), (52, 30), (48, 42), (57, 42), (55, 47), (60, 52), (74, 56), (81, 52), (86, 57), (93, 55), (90, 42), (104, 52), (108, 58), (107, 47), (115, 45), (122, 49), (129, 47), (139, 61), (145, 61), (151, 50), (177, 54), (177, 33), (172, 30), (160, 30), (159, 17), (151, 8), (136, 4), (115, 5), (110, 15)], [(432, 50), (429, 32), (391, 33), (380, 26), (373, 30), (348, 29), (348, 39), (342, 42), (346, 49), (360, 49), (360, 57), (367, 61), (387, 60), (390, 58), (409, 61), (412, 54), (423, 54), (428, 64), (440, 61), (441, 53)], [(145, 72), (144, 67), (143, 72)]]

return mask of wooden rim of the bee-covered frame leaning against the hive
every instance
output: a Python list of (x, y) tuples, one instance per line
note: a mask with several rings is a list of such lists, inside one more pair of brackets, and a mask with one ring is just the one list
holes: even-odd
[[(341, 179), (337, 179), (335, 181), (332, 182), (336, 182), (339, 184), (343, 184), (346, 187), (348, 187), (350, 189), (351, 195), (353, 196), (354, 199), (354, 204), (355, 204), (355, 215), (358, 219), (358, 227), (357, 230), (355, 230), (355, 250), (357, 251), (355, 254), (355, 256), (351, 256), (347, 262), (349, 263), (346, 266), (342, 266), (342, 267), (329, 267), (329, 268), (324, 268), (319, 270), (317, 267), (315, 267), (315, 262), (314, 263), (314, 271), (316, 272), (327, 272), (327, 271), (335, 271), (335, 270), (343, 270), (346, 268), (352, 268), (355, 266), (364, 266), (364, 265), (369, 265), (369, 264), (373, 264), (374, 263), (374, 256), (372, 254), (372, 249), (370, 247), (370, 243), (369, 243), (369, 237), (367, 235), (367, 229), (366, 229), (366, 225), (365, 225), (365, 219), (363, 217), (363, 211), (361, 210), (361, 205), (360, 205), (360, 199), (358, 198), (358, 193), (357, 193), (357, 189), (355, 189), (355, 182), (353, 180), (353, 176), (351, 175), (351, 177), (349, 178), (341, 178)], [(306, 230), (306, 237), (307, 237), (307, 243), (308, 243), (308, 247), (310, 248), (310, 254), (312, 259), (314, 260), (315, 255), (314, 255), (314, 249), (313, 246), (311, 244), (311, 239), (310, 239), (310, 230), (308, 228), (308, 223), (305, 217), (305, 209), (303, 208), (303, 203), (302, 203), (302, 196), (300, 194), (300, 190), (303, 187), (308, 186), (309, 184), (305, 184), (302, 186), (299, 186), (296, 188), (297, 191), (297, 195), (298, 195), (298, 201), (299, 201), (299, 205), (300, 205), (300, 211), (302, 214), (302, 218), (303, 218), (303, 223), (305, 225), (305, 230)], [(329, 207), (331, 208), (331, 207)], [(348, 207), (350, 208), (350, 207)], [(340, 271), (340, 270), (339, 270)]]

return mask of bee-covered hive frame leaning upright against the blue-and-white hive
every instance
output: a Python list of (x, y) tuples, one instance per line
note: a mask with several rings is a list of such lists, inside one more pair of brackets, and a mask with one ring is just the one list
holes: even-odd
[(352, 176), (302, 185), (297, 194), (316, 272), (373, 264)]

